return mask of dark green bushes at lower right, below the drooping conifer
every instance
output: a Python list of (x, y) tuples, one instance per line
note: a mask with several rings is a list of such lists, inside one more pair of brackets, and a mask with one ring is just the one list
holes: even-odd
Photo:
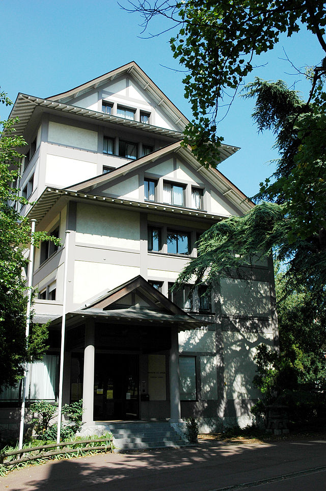
[(286, 404), (292, 422), (325, 424), (326, 330), (324, 299), (316, 299), (304, 288), (284, 295), (284, 272), (276, 275), (280, 352), (260, 345), (254, 384), (261, 399), (252, 412), (266, 422), (265, 405)]

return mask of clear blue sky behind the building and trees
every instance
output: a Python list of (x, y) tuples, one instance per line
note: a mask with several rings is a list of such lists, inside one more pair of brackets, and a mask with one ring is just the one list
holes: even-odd
[[(127, 5), (127, 0), (120, 0)], [(169, 39), (173, 32), (152, 39), (140, 37), (138, 14), (123, 11), (115, 0), (1, 0), (0, 2), (0, 86), (15, 100), (18, 92), (48, 97), (80, 85), (131, 60), (137, 62), (174, 104), (191, 119), (183, 97), (182, 69), (172, 58)], [(162, 19), (151, 30), (166, 28)], [(292, 38), (281, 38), (273, 51), (256, 61), (257, 68), (247, 79), (283, 79), (305, 96), (309, 84), (303, 76), (291, 75), (285, 58), (301, 67), (314, 65), (323, 51), (305, 28)], [(168, 67), (168, 68), (166, 68)], [(273, 135), (257, 134), (251, 113), (253, 101), (239, 97), (219, 125), (225, 143), (241, 147), (219, 169), (249, 196), (259, 182), (274, 169), (269, 161), (277, 158), (271, 150)], [(0, 107), (0, 118), (10, 109)]]

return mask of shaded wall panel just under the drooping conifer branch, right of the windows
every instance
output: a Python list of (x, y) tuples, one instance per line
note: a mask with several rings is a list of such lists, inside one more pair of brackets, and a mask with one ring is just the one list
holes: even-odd
[(270, 317), (269, 282), (221, 278), (221, 305), (224, 315)]

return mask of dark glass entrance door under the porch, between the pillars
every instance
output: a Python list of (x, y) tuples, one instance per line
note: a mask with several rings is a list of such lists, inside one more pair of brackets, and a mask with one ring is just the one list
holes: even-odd
[(95, 355), (94, 420), (139, 418), (139, 355)]

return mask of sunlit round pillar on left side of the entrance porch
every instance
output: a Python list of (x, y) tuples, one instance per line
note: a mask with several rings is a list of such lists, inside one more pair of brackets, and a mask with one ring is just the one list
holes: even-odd
[(94, 410), (94, 359), (95, 323), (88, 319), (85, 326), (84, 381), (83, 381), (83, 421), (93, 423)]

